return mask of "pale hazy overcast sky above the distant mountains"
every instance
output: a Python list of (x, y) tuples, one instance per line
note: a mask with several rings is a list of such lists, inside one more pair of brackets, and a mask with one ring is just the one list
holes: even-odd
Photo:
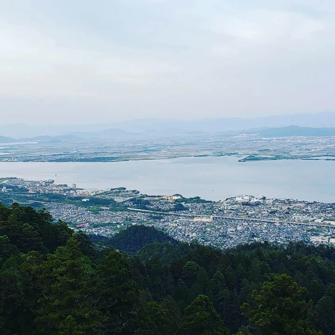
[(0, 0), (0, 122), (335, 110), (333, 0)]

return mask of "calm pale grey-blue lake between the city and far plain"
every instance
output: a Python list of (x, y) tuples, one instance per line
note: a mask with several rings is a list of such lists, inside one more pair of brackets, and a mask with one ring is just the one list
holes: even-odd
[[(122, 162), (0, 162), (0, 177), (55, 179), (78, 188), (126, 187), (223, 200), (239, 194), (335, 202), (335, 161), (238, 162), (234, 156)], [(55, 176), (57, 174), (57, 177)]]

